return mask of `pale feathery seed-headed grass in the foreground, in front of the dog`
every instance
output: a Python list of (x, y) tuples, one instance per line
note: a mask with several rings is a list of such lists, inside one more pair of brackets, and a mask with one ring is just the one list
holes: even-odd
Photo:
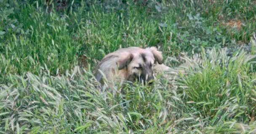
[[(208, 55), (206, 55), (208, 54)], [(184, 57), (184, 75), (154, 87), (118, 85), (101, 91), (91, 72), (75, 67), (9, 75), (1, 85), (3, 133), (253, 133), (255, 56), (207, 50)], [(186, 70), (186, 69), (184, 69)], [(50, 70), (48, 70), (50, 71)], [(93, 84), (94, 83), (94, 84)]]

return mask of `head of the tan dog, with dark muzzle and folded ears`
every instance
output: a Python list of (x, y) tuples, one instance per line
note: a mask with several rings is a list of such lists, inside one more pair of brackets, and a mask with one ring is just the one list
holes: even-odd
[(125, 53), (117, 63), (119, 64), (118, 69), (126, 69), (128, 72), (127, 80), (142, 82), (150, 82), (154, 80), (153, 66), (154, 64), (162, 64), (163, 56), (157, 48), (150, 47), (143, 49), (142, 51)]

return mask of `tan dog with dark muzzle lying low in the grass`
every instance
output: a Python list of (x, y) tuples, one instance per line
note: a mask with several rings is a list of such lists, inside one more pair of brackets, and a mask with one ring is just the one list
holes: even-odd
[[(154, 79), (153, 67), (162, 64), (162, 52), (156, 47), (142, 49), (128, 47), (107, 54), (99, 63), (94, 76), (102, 85), (106, 82), (150, 82)], [(108, 84), (107, 84), (108, 85)]]

